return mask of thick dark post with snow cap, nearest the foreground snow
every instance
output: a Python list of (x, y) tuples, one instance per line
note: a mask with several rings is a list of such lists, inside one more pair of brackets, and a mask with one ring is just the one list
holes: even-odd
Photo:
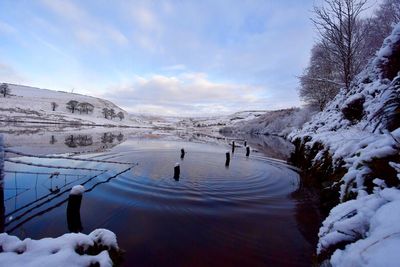
[(81, 222), (81, 203), (82, 195), (85, 192), (85, 188), (82, 185), (76, 185), (72, 187), (68, 197), (67, 206), (67, 222), (68, 230), (73, 233), (79, 233), (82, 231)]

